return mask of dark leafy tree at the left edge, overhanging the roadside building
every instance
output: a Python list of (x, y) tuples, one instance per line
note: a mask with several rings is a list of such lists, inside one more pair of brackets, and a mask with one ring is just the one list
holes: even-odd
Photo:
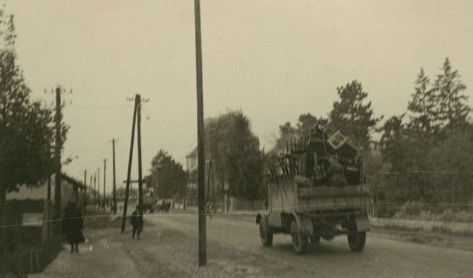
[[(15, 53), (13, 16), (0, 8), (0, 223), (6, 194), (37, 186), (53, 172), (53, 113), (31, 100)], [(0, 234), (3, 235), (3, 231)], [(1, 239), (1, 238), (0, 238)]]

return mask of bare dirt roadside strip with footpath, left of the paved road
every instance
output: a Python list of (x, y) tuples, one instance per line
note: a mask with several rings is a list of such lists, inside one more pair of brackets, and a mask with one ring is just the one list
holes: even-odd
[[(198, 266), (195, 237), (148, 223), (141, 239), (132, 239), (130, 226), (121, 234), (117, 223), (97, 217), (84, 229), (87, 241), (78, 254), (64, 244), (58, 257), (43, 272), (28, 277), (293, 277), (289, 263), (260, 258), (207, 240), (207, 267)], [(270, 267), (268, 267), (270, 266)], [(296, 271), (302, 277), (311, 275)]]

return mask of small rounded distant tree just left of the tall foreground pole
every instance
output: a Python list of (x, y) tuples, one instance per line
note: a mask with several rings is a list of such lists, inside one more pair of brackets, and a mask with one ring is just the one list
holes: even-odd
[(150, 174), (146, 177), (146, 187), (157, 185), (157, 196), (160, 198), (178, 198), (185, 196), (187, 189), (187, 172), (180, 163), (175, 162), (167, 151), (160, 149), (151, 160)]

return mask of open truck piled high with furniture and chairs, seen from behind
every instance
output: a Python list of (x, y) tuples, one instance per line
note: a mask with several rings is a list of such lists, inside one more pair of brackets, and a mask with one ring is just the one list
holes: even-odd
[(365, 246), (370, 230), (370, 194), (363, 183), (363, 162), (340, 132), (327, 138), (319, 127), (286, 143), (266, 167), (268, 199), (256, 223), (264, 246), (273, 234), (291, 234), (296, 252), (309, 242), (347, 234), (354, 252)]

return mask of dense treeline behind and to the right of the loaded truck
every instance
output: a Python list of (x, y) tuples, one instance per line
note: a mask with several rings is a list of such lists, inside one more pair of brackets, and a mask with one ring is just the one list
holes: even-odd
[[(465, 208), (473, 197), (473, 125), (465, 89), (449, 59), (433, 80), (421, 68), (406, 111), (384, 120), (374, 117), (368, 93), (355, 80), (337, 89), (340, 99), (327, 118), (307, 113), (297, 127), (282, 124), (275, 148), (319, 123), (350, 136), (361, 151), (373, 201), (385, 205), (385, 214), (406, 203), (418, 206), (410, 210)], [(380, 140), (372, 139), (374, 133)]]

